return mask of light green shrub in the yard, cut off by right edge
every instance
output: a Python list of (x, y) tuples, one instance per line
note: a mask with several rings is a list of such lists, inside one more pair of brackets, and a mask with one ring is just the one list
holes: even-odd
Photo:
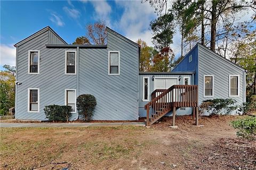
[(232, 126), (238, 129), (236, 132), (238, 137), (253, 140), (256, 137), (256, 117), (247, 116), (244, 119), (232, 121)]

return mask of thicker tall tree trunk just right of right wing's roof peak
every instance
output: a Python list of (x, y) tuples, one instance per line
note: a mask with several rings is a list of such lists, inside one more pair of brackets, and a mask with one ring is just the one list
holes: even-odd
[(213, 52), (215, 52), (215, 44), (216, 44), (217, 3), (218, 3), (218, 1), (212, 0), (211, 47), (210, 47), (210, 49)]

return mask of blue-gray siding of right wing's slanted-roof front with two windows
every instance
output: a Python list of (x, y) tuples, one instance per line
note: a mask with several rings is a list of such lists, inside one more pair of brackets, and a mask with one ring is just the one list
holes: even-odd
[[(244, 102), (244, 70), (210, 49), (198, 45), (198, 102), (213, 98), (233, 98), (238, 104)], [(214, 96), (204, 97), (204, 75), (214, 75)], [(239, 97), (229, 97), (229, 75), (239, 75)]]

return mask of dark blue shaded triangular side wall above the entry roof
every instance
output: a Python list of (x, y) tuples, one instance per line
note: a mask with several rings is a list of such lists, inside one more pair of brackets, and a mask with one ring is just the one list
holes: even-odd
[[(192, 61), (189, 63), (189, 56), (192, 55)], [(174, 67), (172, 72), (196, 72), (194, 84), (198, 84), (198, 45), (195, 45), (183, 60)]]

